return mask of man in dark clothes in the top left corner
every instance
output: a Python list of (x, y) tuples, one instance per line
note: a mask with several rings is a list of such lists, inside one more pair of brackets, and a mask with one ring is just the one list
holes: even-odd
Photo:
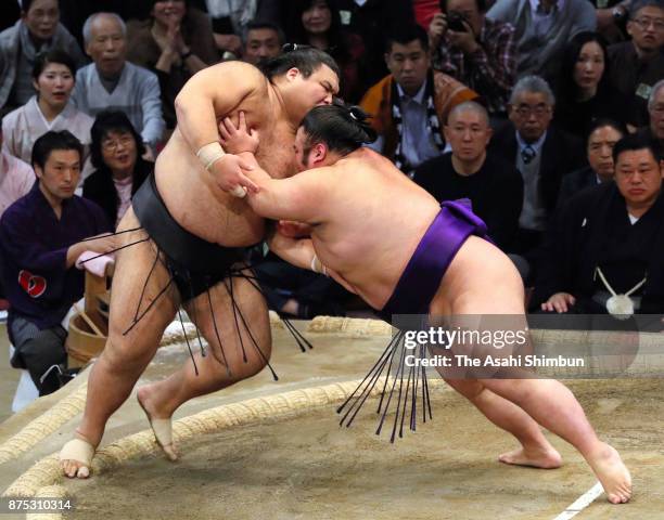
[(35, 94), (33, 68), (39, 52), (60, 49), (76, 67), (85, 64), (78, 43), (59, 21), (58, 0), (22, 0), (21, 20), (0, 32), (0, 108), (4, 113), (25, 105)]

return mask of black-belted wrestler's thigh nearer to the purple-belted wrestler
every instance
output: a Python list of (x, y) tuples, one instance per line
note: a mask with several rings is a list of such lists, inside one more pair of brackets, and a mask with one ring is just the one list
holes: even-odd
[(203, 292), (184, 309), (213, 349), (207, 362), (217, 368), (220, 361), (228, 363), (234, 379), (250, 377), (267, 364), (271, 353), (268, 307), (250, 281), (225, 278), (209, 289), (209, 298)]

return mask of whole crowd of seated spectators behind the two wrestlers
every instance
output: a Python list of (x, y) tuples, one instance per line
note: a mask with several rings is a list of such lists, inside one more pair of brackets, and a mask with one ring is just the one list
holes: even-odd
[[(115, 246), (103, 234), (153, 174), (180, 89), (220, 62), (260, 68), (286, 43), (335, 60), (370, 147), (436, 199), (471, 200), (531, 311), (608, 313), (627, 295), (664, 313), (664, 0), (4, 4), (0, 298), (12, 364), (42, 394), (84, 291), (75, 262)], [(357, 308), (264, 249), (252, 262), (277, 312)]]

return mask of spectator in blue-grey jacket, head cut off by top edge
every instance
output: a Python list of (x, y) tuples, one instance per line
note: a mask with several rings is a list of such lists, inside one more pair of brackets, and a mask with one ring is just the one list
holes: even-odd
[(519, 76), (558, 76), (567, 41), (584, 30), (595, 30), (597, 15), (588, 0), (497, 0), (486, 16), (511, 24), (519, 50)]

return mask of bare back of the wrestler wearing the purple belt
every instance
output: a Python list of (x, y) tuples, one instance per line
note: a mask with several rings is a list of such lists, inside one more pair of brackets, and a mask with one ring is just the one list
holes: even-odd
[(339, 160), (333, 170), (333, 213), (316, 229), (314, 245), (325, 265), (381, 309), (439, 205), (368, 148)]

